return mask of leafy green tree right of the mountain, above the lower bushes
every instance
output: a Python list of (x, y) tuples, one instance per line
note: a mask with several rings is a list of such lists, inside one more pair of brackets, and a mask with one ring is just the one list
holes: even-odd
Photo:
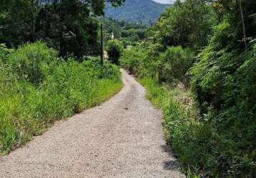
[[(157, 24), (147, 32), (164, 49), (167, 46), (202, 48), (207, 45), (217, 16), (212, 7), (201, 0), (176, 1), (165, 9)], [(149, 38), (148, 38), (149, 39)]]

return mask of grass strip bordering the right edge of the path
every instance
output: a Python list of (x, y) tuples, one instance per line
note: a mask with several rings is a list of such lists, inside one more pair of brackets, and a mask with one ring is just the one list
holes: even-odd
[[(200, 127), (200, 122), (194, 119), (197, 110), (188, 102), (191, 100), (191, 93), (178, 87), (159, 85), (152, 78), (139, 78), (139, 82), (147, 88), (147, 98), (164, 112), (165, 138), (174, 150), (182, 169), (187, 177), (198, 177), (200, 172), (195, 166), (198, 160), (192, 159), (192, 155), (198, 152), (192, 150), (189, 144), (194, 140), (194, 129)], [(195, 162), (192, 162), (193, 160)]]

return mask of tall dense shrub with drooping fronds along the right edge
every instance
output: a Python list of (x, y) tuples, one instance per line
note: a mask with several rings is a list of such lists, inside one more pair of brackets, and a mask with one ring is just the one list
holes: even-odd
[(228, 30), (226, 25), (218, 27), (210, 45), (198, 56), (191, 70), (192, 90), (202, 120), (216, 128), (217, 172), (222, 176), (253, 177), (256, 175), (256, 46), (252, 44), (242, 53), (239, 49), (223, 48), (226, 42), (220, 42), (219, 36), (227, 38)]

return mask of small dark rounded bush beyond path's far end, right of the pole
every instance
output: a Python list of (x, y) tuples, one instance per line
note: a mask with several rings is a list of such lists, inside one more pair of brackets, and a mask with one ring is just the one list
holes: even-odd
[(117, 40), (110, 40), (107, 43), (107, 54), (109, 61), (119, 65), (119, 58), (122, 56), (123, 46)]

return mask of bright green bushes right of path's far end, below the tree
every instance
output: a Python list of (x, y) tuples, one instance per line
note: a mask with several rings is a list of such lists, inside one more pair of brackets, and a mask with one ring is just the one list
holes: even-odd
[(151, 76), (170, 84), (178, 80), (187, 86), (189, 78), (186, 74), (193, 66), (195, 52), (181, 46), (169, 47), (163, 53), (157, 51), (157, 45), (129, 48), (124, 50), (121, 65), (136, 75)]

